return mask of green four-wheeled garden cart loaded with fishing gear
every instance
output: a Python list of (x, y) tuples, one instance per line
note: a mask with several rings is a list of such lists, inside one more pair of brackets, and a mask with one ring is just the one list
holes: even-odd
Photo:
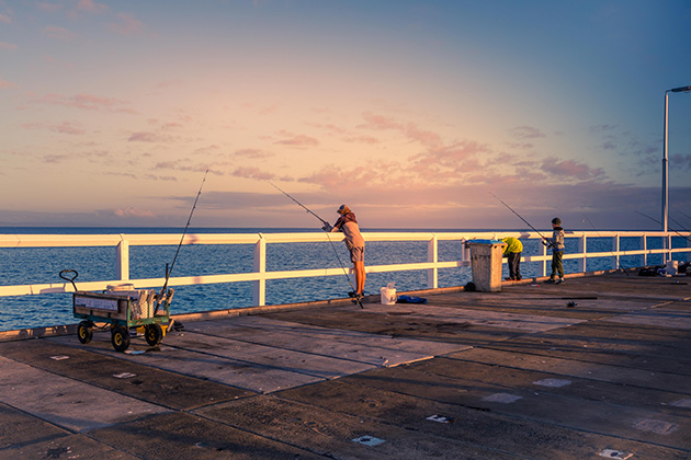
[[(70, 274), (71, 277), (69, 276)], [(111, 326), (111, 343), (117, 352), (129, 347), (129, 330), (144, 333), (150, 346), (161, 343), (170, 324), (170, 302), (174, 289), (157, 294), (154, 289), (135, 289), (132, 284), (107, 286), (103, 292), (88, 292), (77, 289), (73, 269), (60, 272), (60, 278), (72, 284), (72, 312), (80, 319), (77, 337), (88, 344), (93, 337), (95, 323)]]

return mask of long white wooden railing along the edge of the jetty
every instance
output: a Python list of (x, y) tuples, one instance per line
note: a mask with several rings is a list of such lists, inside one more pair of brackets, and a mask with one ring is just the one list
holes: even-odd
[[(548, 234), (545, 232), (545, 234)], [(541, 235), (536, 232), (364, 232), (367, 242), (387, 241), (405, 242), (421, 241), (427, 242), (427, 262), (405, 263), (387, 265), (369, 265), (367, 273), (385, 273), (401, 271), (427, 271), (427, 287), (438, 287), (439, 269), (469, 266), (469, 251), (462, 245), (462, 251), (456, 261), (439, 261), (440, 241), (467, 241), (473, 239), (502, 239), (506, 237), (520, 237), (521, 240), (535, 240)], [(686, 238), (684, 248), (672, 249), (672, 238)], [(642, 256), (643, 265), (647, 265), (647, 257), (652, 254), (662, 254), (662, 261), (672, 260), (676, 253), (691, 253), (691, 233), (671, 232), (632, 232), (632, 231), (602, 231), (566, 232), (566, 238), (578, 240), (578, 252), (567, 252), (564, 260), (577, 260), (579, 272), (587, 272), (588, 258), (614, 257), (615, 266), (620, 265), (620, 257)], [(588, 252), (588, 239), (610, 238), (612, 240), (611, 251)], [(639, 248), (635, 250), (622, 250), (620, 241), (622, 238), (637, 238), (641, 241)], [(648, 238), (660, 238), (662, 248), (649, 249)], [(129, 279), (129, 246), (133, 245), (178, 245), (180, 234), (0, 234), (0, 248), (87, 248), (87, 246), (116, 246), (116, 257), (114, 264), (116, 268), (116, 279), (100, 281), (80, 281), (81, 290), (103, 290), (107, 285), (117, 283), (132, 283), (136, 288), (161, 287), (165, 278)], [(306, 242), (340, 242), (342, 233), (196, 233), (188, 234), (183, 244), (251, 244), (254, 248), (253, 271), (250, 273), (230, 273), (222, 275), (200, 275), (171, 277), (168, 286), (203, 285), (216, 283), (253, 283), (253, 304), (265, 304), (267, 280), (285, 278), (304, 278), (316, 276), (339, 276), (343, 275), (343, 269), (317, 268), (297, 271), (267, 272), (267, 244), (273, 243), (306, 243)], [(552, 255), (547, 249), (539, 244), (539, 254), (523, 255), (523, 262), (542, 263), (542, 276), (547, 273), (548, 261)], [(70, 283), (60, 284), (33, 284), (0, 286), (0, 297), (25, 296), (52, 292), (71, 292), (73, 288)]]

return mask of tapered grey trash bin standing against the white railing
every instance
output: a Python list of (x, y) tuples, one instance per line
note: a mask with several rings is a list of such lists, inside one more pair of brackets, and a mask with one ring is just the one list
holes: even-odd
[(501, 256), (507, 243), (500, 240), (469, 240), (471, 267), (475, 290), (499, 292), (501, 290)]

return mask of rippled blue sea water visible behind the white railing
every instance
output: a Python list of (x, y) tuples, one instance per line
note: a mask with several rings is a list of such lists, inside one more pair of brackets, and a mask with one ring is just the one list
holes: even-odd
[[(269, 232), (315, 232), (314, 229), (237, 229), (237, 228), (191, 228), (189, 233), (262, 233)], [(377, 231), (363, 229), (363, 231)], [(387, 231), (387, 230), (380, 230)], [(395, 231), (406, 231), (396, 229)], [(410, 230), (432, 231), (432, 230)], [(451, 230), (446, 230), (451, 231)], [(454, 230), (463, 231), (463, 230)], [(118, 233), (177, 233), (174, 228), (1, 228), (2, 234), (118, 234)], [(677, 240), (677, 239), (675, 239)], [(679, 238), (673, 246), (686, 246)], [(622, 249), (638, 249), (637, 238), (621, 239)], [(524, 255), (540, 252), (537, 240), (524, 242)], [(589, 238), (589, 252), (611, 251), (609, 238)], [(661, 248), (661, 239), (648, 239), (648, 248)], [(329, 243), (277, 243), (267, 246), (267, 271), (288, 271), (309, 268), (340, 268), (333, 252), (348, 267), (350, 260), (343, 243), (331, 246)], [(177, 245), (131, 246), (129, 276), (132, 279), (163, 277), (167, 263), (172, 262)], [(460, 242), (440, 241), (440, 261), (461, 258)], [(566, 251), (578, 252), (578, 240), (567, 239)], [(79, 273), (80, 281), (115, 279), (115, 248), (0, 248), (0, 285), (25, 285), (63, 283), (58, 274), (70, 268)], [(688, 254), (687, 254), (688, 256)], [(661, 264), (661, 256), (648, 257), (648, 264)], [(427, 242), (369, 242), (366, 265), (427, 262)], [(247, 245), (192, 245), (182, 246), (174, 266), (173, 277), (192, 275), (216, 275), (246, 273), (252, 271), (253, 246)], [(643, 264), (639, 256), (620, 258), (621, 266), (634, 267)], [(577, 261), (565, 261), (567, 273), (578, 272)], [(615, 268), (614, 257), (588, 260), (588, 269)], [(522, 263), (524, 277), (539, 276), (539, 263)], [(505, 264), (505, 276), (507, 276)], [(399, 291), (422, 289), (427, 283), (426, 271), (392, 272), (367, 274), (366, 294), (378, 294), (380, 288), (395, 283)], [(439, 286), (463, 286), (472, 280), (471, 268), (440, 269)], [(354, 279), (353, 279), (354, 283)], [(299, 301), (342, 298), (352, 290), (346, 275), (269, 280), (267, 303), (279, 304)], [(172, 314), (206, 310), (222, 310), (252, 306), (252, 284), (234, 283), (218, 285), (179, 286), (171, 304)], [(0, 297), (0, 331), (26, 327), (71, 324), (78, 322), (72, 315), (71, 294), (39, 296)]]

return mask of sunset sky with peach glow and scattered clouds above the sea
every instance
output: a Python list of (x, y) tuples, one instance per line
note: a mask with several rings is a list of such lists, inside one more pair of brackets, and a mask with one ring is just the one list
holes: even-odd
[[(659, 230), (689, 24), (688, 0), (0, 0), (0, 226), (182, 228), (199, 196), (192, 227), (320, 227), (277, 186), (363, 229)], [(667, 94), (688, 230), (691, 93)]]

